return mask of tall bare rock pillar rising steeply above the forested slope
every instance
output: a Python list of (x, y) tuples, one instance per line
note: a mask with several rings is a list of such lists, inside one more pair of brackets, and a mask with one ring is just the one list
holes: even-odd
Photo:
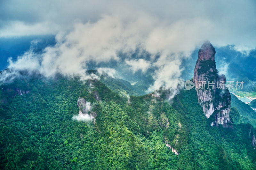
[(225, 87), (225, 75), (219, 75), (215, 65), (215, 49), (209, 41), (204, 42), (198, 51), (193, 82), (198, 103), (209, 118), (214, 114), (213, 125), (230, 122), (230, 93)]

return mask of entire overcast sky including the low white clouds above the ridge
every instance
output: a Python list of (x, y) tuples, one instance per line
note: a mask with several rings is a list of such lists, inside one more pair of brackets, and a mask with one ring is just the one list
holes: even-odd
[[(175, 91), (181, 83), (181, 60), (205, 40), (215, 47), (234, 45), (245, 54), (256, 48), (255, 9), (254, 0), (0, 1), (0, 38), (55, 35), (56, 45), (43, 54), (30, 50), (17, 61), (10, 59), (14, 70), (88, 79), (87, 63), (120, 62), (122, 53), (122, 64), (131, 73), (155, 70), (150, 91), (161, 86)], [(138, 49), (140, 57), (133, 58)]]

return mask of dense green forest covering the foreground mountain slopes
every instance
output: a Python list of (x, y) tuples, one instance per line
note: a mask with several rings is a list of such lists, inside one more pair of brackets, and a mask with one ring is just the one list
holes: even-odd
[[(210, 126), (194, 89), (171, 105), (164, 92), (127, 98), (60, 75), (1, 89), (0, 169), (256, 169), (253, 127), (236, 108), (229, 128)], [(72, 119), (78, 97), (92, 103), (95, 123)]]

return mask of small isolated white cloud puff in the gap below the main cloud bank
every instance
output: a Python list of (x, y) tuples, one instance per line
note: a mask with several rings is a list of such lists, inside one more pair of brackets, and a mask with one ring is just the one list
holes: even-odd
[(142, 58), (135, 60), (125, 60), (125, 63), (130, 66), (133, 73), (138, 70), (141, 70), (145, 73), (151, 65), (149, 61), (146, 61)]

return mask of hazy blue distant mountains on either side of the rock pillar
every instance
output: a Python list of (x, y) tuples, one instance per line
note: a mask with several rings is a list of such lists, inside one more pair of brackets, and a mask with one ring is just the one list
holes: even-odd
[[(184, 70), (181, 76), (184, 80), (189, 80), (193, 77), (194, 61), (198, 58), (198, 50), (195, 49), (190, 58), (182, 61)], [(255, 92), (256, 50), (254, 49), (249, 54), (244, 54), (236, 51), (234, 45), (228, 45), (215, 47), (215, 51), (216, 68), (225, 74), (227, 81), (244, 81), (243, 89), (240, 88), (238, 91)], [(237, 93), (233, 89), (230, 89), (230, 91)]]

